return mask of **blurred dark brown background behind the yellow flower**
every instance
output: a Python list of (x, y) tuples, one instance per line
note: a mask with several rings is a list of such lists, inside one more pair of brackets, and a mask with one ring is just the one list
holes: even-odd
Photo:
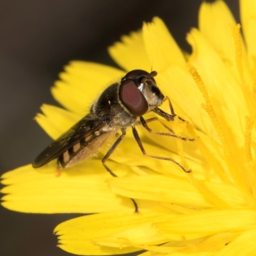
[[(70, 60), (115, 65), (107, 47), (161, 17), (179, 45), (197, 26), (201, 0), (1, 0), (0, 174), (31, 163), (51, 140), (33, 120)], [(226, 1), (238, 18), (238, 1)], [(65, 256), (52, 230), (74, 214), (23, 214), (0, 206), (0, 256)]]

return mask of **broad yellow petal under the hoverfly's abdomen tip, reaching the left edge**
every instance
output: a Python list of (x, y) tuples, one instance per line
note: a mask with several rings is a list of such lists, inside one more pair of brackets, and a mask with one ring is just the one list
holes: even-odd
[[(6, 193), (2, 204), (20, 212), (105, 212), (129, 208), (134, 205), (129, 198), (111, 193), (105, 182), (110, 177), (99, 160), (86, 160), (61, 172), (57, 177), (56, 161), (41, 168), (31, 165), (4, 173), (2, 189)], [(116, 167), (116, 168), (115, 168)], [(125, 166), (112, 163), (117, 175), (132, 173)], [(143, 202), (140, 202), (143, 207)]]

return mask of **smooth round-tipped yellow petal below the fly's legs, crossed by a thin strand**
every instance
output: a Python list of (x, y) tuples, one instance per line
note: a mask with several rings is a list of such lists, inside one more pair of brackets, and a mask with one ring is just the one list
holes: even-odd
[[(166, 177), (166, 175), (145, 175), (109, 179), (108, 184), (111, 191), (131, 198), (195, 205), (197, 207), (214, 206), (209, 199), (207, 200), (202, 191), (191, 184), (189, 179)], [(205, 182), (205, 186), (230, 207), (241, 208), (246, 205), (243, 194), (236, 186), (216, 182)]]

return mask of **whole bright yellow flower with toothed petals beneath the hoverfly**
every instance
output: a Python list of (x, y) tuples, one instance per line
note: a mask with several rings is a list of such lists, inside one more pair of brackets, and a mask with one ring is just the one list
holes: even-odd
[[(244, 38), (226, 4), (216, 1), (202, 4), (199, 28), (188, 34), (192, 54), (179, 49), (159, 18), (109, 48), (125, 71), (157, 70), (157, 84), (190, 125), (166, 123), (177, 133), (188, 130), (195, 141), (153, 136), (138, 127), (143, 145), (148, 154), (172, 157), (191, 173), (142, 156), (127, 134), (108, 161), (118, 178), (109, 177), (101, 156), (60, 177), (56, 161), (36, 170), (23, 166), (3, 175), (2, 193), (8, 194), (3, 206), (21, 212), (98, 212), (54, 230), (60, 248), (79, 255), (139, 250), (148, 250), (143, 255), (254, 255), (256, 2), (240, 4)], [(68, 110), (44, 105), (36, 121), (58, 138), (108, 82), (124, 74), (95, 63), (70, 63), (52, 88)], [(168, 104), (161, 108), (168, 111)], [(150, 127), (163, 129), (155, 123)], [(129, 198), (138, 203), (139, 214)]]

